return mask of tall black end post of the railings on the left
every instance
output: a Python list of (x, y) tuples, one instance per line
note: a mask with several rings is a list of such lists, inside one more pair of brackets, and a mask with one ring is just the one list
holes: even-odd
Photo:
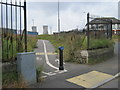
[(24, 30), (25, 30), (25, 52), (27, 52), (27, 14), (26, 14), (26, 0), (24, 0)]

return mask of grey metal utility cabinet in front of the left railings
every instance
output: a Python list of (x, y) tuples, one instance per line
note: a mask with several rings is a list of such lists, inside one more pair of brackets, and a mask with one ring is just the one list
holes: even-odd
[(17, 54), (17, 71), (28, 85), (37, 82), (35, 58), (36, 56), (34, 52)]

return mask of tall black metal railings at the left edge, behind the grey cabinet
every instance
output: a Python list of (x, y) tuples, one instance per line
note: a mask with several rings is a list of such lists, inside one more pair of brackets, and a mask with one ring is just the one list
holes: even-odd
[[(14, 61), (27, 52), (26, 1), (1, 0), (2, 61)], [(23, 13), (22, 13), (23, 12)]]

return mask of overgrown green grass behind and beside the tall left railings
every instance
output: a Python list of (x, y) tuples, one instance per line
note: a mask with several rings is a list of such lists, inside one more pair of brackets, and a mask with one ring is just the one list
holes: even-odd
[[(28, 36), (27, 41), (28, 41), (27, 42), (28, 52), (34, 51), (34, 48), (37, 47), (37, 45), (36, 45), (37, 37), (36, 36)], [(25, 48), (24, 39), (22, 40), (21, 43), (20, 43), (19, 39), (18, 39), (17, 42), (18, 42), (18, 44), (16, 44), (15, 36), (13, 37), (13, 43), (11, 42), (11, 40), (4, 39), (4, 41), (3, 41), (3, 51), (2, 51), (3, 62), (14, 61), (16, 56), (17, 56), (17, 53), (24, 52), (24, 48)], [(7, 44), (8, 44), (8, 51), (7, 51)], [(12, 57), (12, 44), (13, 44), (13, 57)], [(17, 50), (17, 47), (18, 47), (19, 51)], [(7, 57), (7, 54), (8, 54), (8, 57)]]

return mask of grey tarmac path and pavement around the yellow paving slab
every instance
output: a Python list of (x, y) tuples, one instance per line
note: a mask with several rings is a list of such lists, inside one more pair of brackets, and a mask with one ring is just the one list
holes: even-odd
[[(31, 87), (34, 88), (84, 88), (83, 86), (68, 82), (67, 79), (91, 72), (98, 71), (109, 75), (118, 73), (118, 46), (120, 43), (115, 43), (115, 55), (113, 58), (95, 65), (84, 65), (75, 63), (64, 63), (64, 71), (59, 71), (58, 55), (55, 54), (54, 46), (47, 40), (38, 40), (38, 48), (36, 53), (36, 67), (42, 66), (42, 77), (44, 81), (37, 83)], [(41, 54), (42, 53), (42, 54)], [(52, 53), (52, 54), (48, 54)], [(105, 83), (98, 88), (118, 88), (118, 78)]]

